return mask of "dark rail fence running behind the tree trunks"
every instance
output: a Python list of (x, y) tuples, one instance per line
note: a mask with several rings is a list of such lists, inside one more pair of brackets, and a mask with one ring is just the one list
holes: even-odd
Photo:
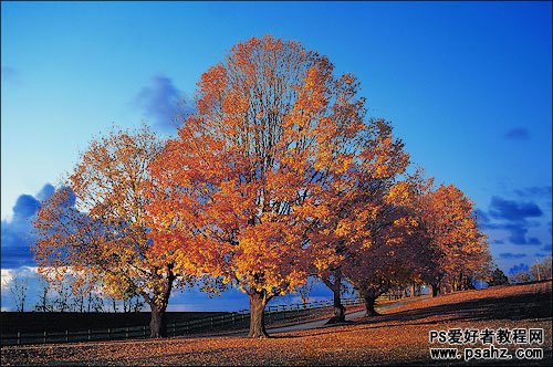
[[(361, 304), (361, 298), (344, 298), (343, 305)], [(285, 319), (293, 323), (301, 323), (304, 317), (309, 316), (313, 310), (332, 306), (333, 302), (315, 301), (310, 303), (282, 304), (265, 307), (265, 315), (290, 316)], [(286, 315), (288, 314), (288, 315)], [(83, 314), (84, 316), (84, 314)], [(227, 326), (238, 326), (246, 324), (250, 319), (249, 310), (241, 310), (218, 316), (207, 316), (197, 319), (190, 319), (181, 323), (169, 323), (167, 325), (168, 336), (178, 336), (194, 334), (200, 331), (223, 328)], [(244, 325), (246, 326), (246, 325)], [(116, 340), (131, 338), (145, 338), (150, 334), (149, 326), (128, 326), (114, 327), (107, 329), (84, 329), (84, 331), (65, 331), (65, 332), (42, 332), (42, 333), (12, 333), (1, 334), (1, 345), (30, 345), (30, 344), (50, 344), (50, 343), (74, 343), (74, 342), (92, 342), (92, 340)]]

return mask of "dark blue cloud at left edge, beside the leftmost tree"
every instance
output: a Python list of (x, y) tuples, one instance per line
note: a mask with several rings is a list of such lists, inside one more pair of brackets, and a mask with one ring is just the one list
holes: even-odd
[(41, 201), (50, 198), (52, 193), (53, 186), (46, 184), (35, 197), (21, 195), (13, 206), (11, 220), (2, 220), (2, 269), (34, 266), (30, 251), (35, 241), (32, 220), (41, 207)]

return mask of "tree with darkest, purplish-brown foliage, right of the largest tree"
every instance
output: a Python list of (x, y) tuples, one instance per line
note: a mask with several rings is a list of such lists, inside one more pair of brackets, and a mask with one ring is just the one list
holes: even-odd
[(413, 210), (413, 188), (406, 180), (371, 192), (373, 216), (366, 235), (352, 248), (345, 275), (365, 301), (366, 315), (375, 316), (378, 296), (419, 277), (431, 250)]

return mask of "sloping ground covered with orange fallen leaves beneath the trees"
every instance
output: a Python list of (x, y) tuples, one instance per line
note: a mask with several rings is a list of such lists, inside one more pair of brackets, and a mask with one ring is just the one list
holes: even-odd
[[(544, 365), (552, 363), (551, 281), (497, 286), (426, 298), (354, 323), (282, 333), (268, 339), (240, 336), (168, 338), (109, 343), (2, 347), (7, 365), (428, 365), (429, 331), (452, 328), (543, 328), (539, 360), (472, 360), (470, 365)], [(497, 347), (502, 347), (495, 344)], [(465, 346), (460, 346), (462, 349)], [(482, 347), (481, 344), (470, 347)]]

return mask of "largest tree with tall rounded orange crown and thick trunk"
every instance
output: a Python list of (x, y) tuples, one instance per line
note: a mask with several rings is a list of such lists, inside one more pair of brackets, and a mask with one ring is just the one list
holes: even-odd
[(247, 293), (249, 335), (265, 337), (265, 304), (305, 282), (307, 233), (353, 164), (364, 99), (353, 75), (336, 77), (326, 57), (271, 36), (234, 45), (198, 87), (198, 111), (152, 168), (164, 187), (153, 235)]

